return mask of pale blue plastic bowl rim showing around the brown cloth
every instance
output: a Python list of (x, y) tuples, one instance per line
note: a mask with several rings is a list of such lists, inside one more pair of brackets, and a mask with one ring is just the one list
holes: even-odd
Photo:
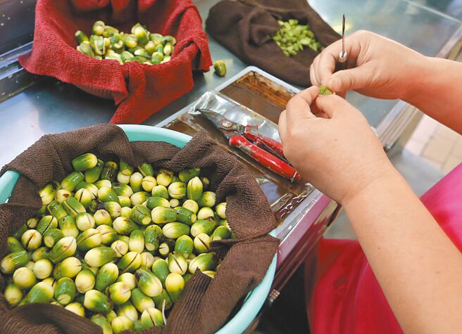
[[(191, 136), (182, 134), (177, 131), (161, 129), (158, 127), (149, 127), (146, 125), (120, 125), (127, 134), (129, 141), (166, 141), (179, 148), (184, 147)], [(11, 195), (13, 188), (18, 181), (19, 174), (17, 172), (7, 171), (0, 177), (0, 203), (5, 203)], [(275, 231), (270, 235), (275, 236)], [(246, 300), (242, 304), (241, 309), (235, 314), (225, 326), (218, 330), (217, 334), (236, 334), (242, 333), (255, 319), (255, 316), (260, 311), (263, 303), (270, 293), (271, 285), (276, 271), (276, 255), (271, 262), (268, 271), (266, 272), (263, 281), (249, 293)]]

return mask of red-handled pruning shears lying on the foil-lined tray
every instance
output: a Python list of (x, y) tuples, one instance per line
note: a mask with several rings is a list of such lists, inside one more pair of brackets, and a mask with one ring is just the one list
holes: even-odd
[(202, 108), (196, 110), (220, 130), (228, 139), (230, 146), (239, 148), (256, 162), (285, 179), (301, 179), (300, 174), (285, 158), (281, 143), (258, 134), (258, 125), (235, 123), (213, 110)]

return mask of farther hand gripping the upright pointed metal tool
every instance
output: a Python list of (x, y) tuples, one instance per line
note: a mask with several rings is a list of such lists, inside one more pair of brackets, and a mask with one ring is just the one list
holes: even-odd
[(347, 68), (335, 72), (342, 40), (330, 44), (310, 68), (311, 84), (342, 94), (355, 90), (375, 98), (405, 98), (423, 75), (425, 56), (373, 32), (358, 31), (345, 39)]

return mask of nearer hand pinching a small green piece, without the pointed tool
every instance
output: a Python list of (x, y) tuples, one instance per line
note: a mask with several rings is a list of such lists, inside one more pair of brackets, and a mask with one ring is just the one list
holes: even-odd
[(359, 110), (340, 96), (318, 94), (311, 86), (287, 103), (279, 119), (282, 148), (306, 181), (345, 204), (394, 169)]

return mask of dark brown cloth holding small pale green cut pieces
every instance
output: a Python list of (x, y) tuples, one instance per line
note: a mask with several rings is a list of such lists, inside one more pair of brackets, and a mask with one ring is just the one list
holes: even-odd
[(291, 18), (310, 25), (323, 46), (340, 38), (306, 0), (223, 0), (210, 9), (206, 30), (244, 62), (292, 84), (311, 86), (310, 65), (319, 53), (305, 48), (287, 57), (268, 37), (279, 29), (277, 20)]

